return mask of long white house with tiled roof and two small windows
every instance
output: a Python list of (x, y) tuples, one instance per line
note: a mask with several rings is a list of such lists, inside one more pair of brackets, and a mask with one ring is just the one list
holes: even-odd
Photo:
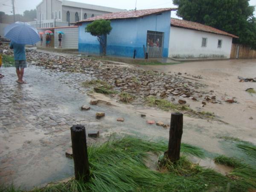
[(237, 37), (209, 26), (172, 19), (169, 57), (230, 58), (233, 38)]

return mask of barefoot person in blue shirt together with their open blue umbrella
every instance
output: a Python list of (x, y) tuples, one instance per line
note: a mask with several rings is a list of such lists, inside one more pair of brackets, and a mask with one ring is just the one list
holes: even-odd
[(28, 23), (17, 21), (7, 26), (4, 29), (4, 34), (6, 38), (11, 40), (10, 48), (14, 52), (15, 67), (18, 76), (17, 82), (20, 84), (26, 83), (23, 81), (24, 68), (26, 68), (25, 45), (34, 45), (40, 41), (38, 31)]

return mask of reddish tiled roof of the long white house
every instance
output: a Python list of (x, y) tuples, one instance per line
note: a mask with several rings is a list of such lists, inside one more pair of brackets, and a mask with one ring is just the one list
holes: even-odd
[(213, 28), (211, 26), (203, 25), (201, 23), (196, 23), (188, 20), (181, 20), (181, 19), (175, 19), (171, 18), (171, 26), (175, 27), (181, 27), (185, 29), (192, 29), (192, 30), (197, 30), (197, 31), (203, 31), (203, 32), (209, 32), (209, 33), (215, 33), (219, 35), (227, 35), (233, 38), (239, 38), (236, 35), (232, 35), (230, 33), (221, 31), (219, 29)]

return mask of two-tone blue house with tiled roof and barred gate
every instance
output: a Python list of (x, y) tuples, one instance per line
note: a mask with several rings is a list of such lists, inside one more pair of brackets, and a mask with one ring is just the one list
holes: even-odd
[(93, 20), (111, 20), (107, 35), (107, 55), (132, 58), (168, 57), (172, 8), (116, 12), (91, 17), (79, 24), (79, 52), (99, 54), (102, 50), (96, 37), (85, 32)]

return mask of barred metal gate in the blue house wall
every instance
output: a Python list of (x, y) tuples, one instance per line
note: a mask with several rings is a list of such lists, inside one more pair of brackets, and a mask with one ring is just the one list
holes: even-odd
[(147, 32), (148, 57), (162, 57), (163, 55), (163, 32)]

